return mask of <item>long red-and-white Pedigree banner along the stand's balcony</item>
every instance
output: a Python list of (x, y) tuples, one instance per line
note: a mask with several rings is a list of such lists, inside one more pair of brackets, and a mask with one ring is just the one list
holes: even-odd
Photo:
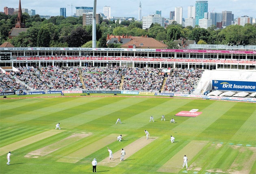
[(198, 62), (198, 63), (230, 63), (256, 64), (250, 60), (211, 60), (211, 59), (168, 59), (168, 58), (138, 58), (138, 57), (17, 57), (17, 60), (106, 60), (106, 61), (143, 61), (143, 62)]

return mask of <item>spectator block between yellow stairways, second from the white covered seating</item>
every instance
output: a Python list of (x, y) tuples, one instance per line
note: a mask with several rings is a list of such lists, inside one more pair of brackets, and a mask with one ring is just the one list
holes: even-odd
[(124, 90), (160, 90), (164, 76), (159, 68), (127, 68), (124, 73)]

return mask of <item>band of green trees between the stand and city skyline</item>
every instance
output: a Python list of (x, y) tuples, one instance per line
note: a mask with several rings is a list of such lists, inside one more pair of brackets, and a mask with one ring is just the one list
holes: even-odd
[[(15, 47), (92, 47), (92, 25), (82, 26), (82, 16), (63, 17), (55, 16), (50, 19), (41, 18), (39, 15), (30, 17), (22, 14), (28, 30), (9, 39), (9, 32), (15, 26), (15, 15), (0, 13), (0, 44), (10, 42)], [(230, 25), (217, 29), (212, 25), (208, 29), (198, 25), (182, 27), (173, 21), (171, 25), (162, 27), (153, 24), (149, 29), (142, 29), (142, 22), (135, 21), (109, 21), (100, 17), (96, 25), (96, 46), (98, 48), (120, 47), (121, 44), (106, 45), (107, 35), (148, 36), (163, 41), (168, 48), (177, 48), (173, 42), (180, 38), (195, 40), (197, 44), (216, 45), (256, 45), (256, 24)]]

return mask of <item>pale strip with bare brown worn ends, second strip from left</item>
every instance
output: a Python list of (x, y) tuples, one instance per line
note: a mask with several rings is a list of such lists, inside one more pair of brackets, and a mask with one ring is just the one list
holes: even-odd
[(35, 151), (32, 151), (25, 155), (26, 158), (38, 158), (39, 156), (48, 155), (54, 151), (57, 151), (58, 149), (61, 149), (62, 147), (68, 146), (82, 138), (85, 138), (89, 136), (90, 134), (73, 134), (67, 138), (64, 138), (62, 140), (59, 140), (57, 142), (54, 142), (48, 146), (42, 147), (40, 149), (37, 149)]

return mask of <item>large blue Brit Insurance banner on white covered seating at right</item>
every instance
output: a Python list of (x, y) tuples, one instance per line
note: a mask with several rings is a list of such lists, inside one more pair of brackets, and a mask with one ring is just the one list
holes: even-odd
[(213, 80), (213, 90), (256, 92), (256, 82)]

